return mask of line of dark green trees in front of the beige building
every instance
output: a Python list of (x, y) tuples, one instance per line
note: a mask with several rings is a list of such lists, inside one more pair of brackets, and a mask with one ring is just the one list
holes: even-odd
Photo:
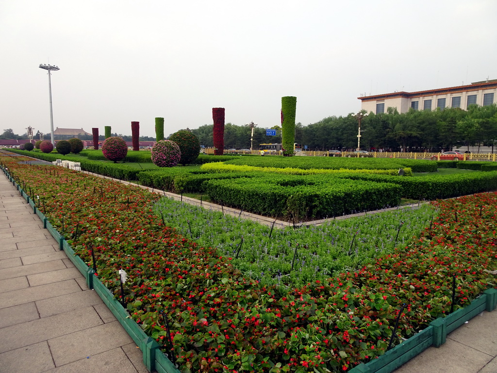
[[(365, 113), (365, 111), (363, 111)], [(281, 130), (279, 126), (271, 127)], [(192, 132), (200, 144), (212, 147), (212, 124)], [(358, 121), (355, 114), (330, 116), (317, 123), (295, 125), (295, 142), (310, 150), (357, 148)], [(447, 151), (453, 147), (492, 146), (497, 140), (497, 105), (470, 105), (468, 110), (414, 110), (400, 114), (389, 107), (386, 113), (364, 116), (361, 120), (361, 149), (391, 151)], [(281, 143), (281, 136), (266, 136), (265, 128), (254, 128), (253, 149), (259, 144)], [(226, 149), (249, 149), (250, 128), (227, 123)]]

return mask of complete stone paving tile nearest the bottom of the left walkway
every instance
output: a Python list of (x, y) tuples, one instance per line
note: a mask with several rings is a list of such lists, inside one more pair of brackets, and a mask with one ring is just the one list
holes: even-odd
[(84, 329), (71, 335), (50, 339), (48, 344), (52, 351), (55, 366), (59, 367), (131, 342), (133, 340), (121, 324), (114, 321)]

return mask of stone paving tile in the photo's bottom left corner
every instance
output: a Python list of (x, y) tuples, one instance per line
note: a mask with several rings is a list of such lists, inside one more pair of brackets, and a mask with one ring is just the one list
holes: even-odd
[(0, 354), (0, 369), (5, 373), (43, 373), (55, 367), (47, 341)]

